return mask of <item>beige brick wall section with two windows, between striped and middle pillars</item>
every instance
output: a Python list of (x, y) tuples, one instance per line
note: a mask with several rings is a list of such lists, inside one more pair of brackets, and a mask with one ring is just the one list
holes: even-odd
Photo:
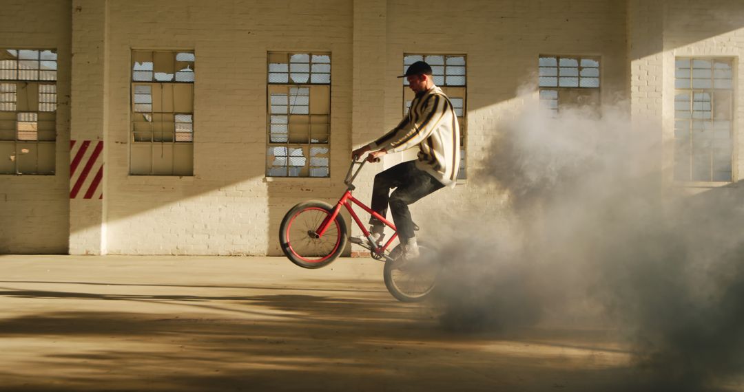
[[(331, 167), (350, 144), (352, 4), (325, 1), (109, 1), (107, 250), (129, 254), (278, 253), (289, 207), (341, 192), (330, 179), (271, 178), (266, 52), (332, 53)], [(196, 53), (193, 177), (129, 176), (132, 49)], [(332, 192), (335, 191), (335, 192)]]

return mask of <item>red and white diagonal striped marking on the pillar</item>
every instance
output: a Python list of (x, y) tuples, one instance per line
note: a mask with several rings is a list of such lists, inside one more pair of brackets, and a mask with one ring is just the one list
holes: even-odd
[(70, 140), (70, 198), (103, 199), (103, 141)]

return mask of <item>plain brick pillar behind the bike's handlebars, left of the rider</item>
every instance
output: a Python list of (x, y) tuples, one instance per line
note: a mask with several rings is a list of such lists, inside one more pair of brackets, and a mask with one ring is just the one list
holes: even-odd
[[(352, 148), (369, 143), (385, 131), (387, 12), (385, 0), (354, 0)], [(373, 175), (380, 169), (380, 163), (365, 166), (355, 181), (355, 197), (369, 203)], [(353, 235), (361, 234), (356, 224), (350, 229)], [(355, 245), (352, 253), (359, 250), (362, 248)]]

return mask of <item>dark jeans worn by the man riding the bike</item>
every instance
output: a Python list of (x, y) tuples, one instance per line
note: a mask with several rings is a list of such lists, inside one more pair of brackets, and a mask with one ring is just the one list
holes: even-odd
[[(385, 217), (388, 212), (388, 204), (393, 214), (393, 221), (398, 229), (400, 241), (405, 243), (408, 238), (413, 238), (414, 222), (411, 220), (411, 212), (408, 204), (413, 204), (421, 197), (429, 195), (444, 185), (432, 174), (416, 168), (416, 161), (400, 163), (374, 177), (372, 187), (372, 209), (379, 215)], [(395, 188), (393, 193), (390, 189)], [(375, 218), (370, 219), (373, 226), (382, 223)]]

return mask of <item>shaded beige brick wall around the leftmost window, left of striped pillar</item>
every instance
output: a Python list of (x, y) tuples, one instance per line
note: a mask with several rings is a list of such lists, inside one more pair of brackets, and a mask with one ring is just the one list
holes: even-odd
[[(0, 175), (0, 253), (66, 253), (69, 236), (71, 1), (3, 1), (0, 48), (57, 49), (54, 175)], [(0, 157), (9, 159), (9, 157)]]

